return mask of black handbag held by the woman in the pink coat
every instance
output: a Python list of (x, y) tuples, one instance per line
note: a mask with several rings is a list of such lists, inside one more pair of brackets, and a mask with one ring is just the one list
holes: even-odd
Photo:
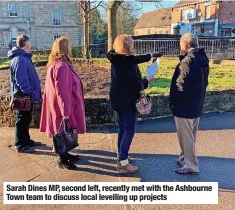
[[(70, 128), (68, 129), (68, 124)], [(64, 131), (61, 132), (62, 125)], [(53, 136), (54, 151), (57, 154), (65, 154), (68, 151), (79, 146), (78, 144), (78, 132), (76, 128), (72, 128), (71, 123), (68, 119), (62, 119), (59, 127), (59, 133)]]

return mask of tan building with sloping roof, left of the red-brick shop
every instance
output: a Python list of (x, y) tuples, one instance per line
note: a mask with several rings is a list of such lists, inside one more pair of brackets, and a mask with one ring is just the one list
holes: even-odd
[(138, 20), (135, 36), (171, 33), (171, 8), (144, 13)]

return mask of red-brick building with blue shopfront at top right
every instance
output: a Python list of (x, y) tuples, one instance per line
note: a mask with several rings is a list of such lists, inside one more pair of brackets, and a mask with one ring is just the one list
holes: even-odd
[(172, 8), (171, 33), (235, 36), (235, 1), (185, 1)]

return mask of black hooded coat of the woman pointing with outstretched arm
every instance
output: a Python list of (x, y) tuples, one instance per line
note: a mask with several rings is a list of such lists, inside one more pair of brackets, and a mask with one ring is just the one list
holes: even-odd
[(138, 63), (147, 62), (151, 55), (124, 55), (111, 51), (107, 55), (111, 62), (110, 99), (115, 111), (135, 112), (135, 102), (148, 81), (142, 80)]

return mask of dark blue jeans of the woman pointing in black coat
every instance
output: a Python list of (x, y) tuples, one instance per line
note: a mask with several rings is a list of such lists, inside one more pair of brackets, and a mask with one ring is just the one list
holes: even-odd
[(119, 160), (126, 160), (135, 135), (137, 116), (135, 113), (118, 114), (118, 155)]

